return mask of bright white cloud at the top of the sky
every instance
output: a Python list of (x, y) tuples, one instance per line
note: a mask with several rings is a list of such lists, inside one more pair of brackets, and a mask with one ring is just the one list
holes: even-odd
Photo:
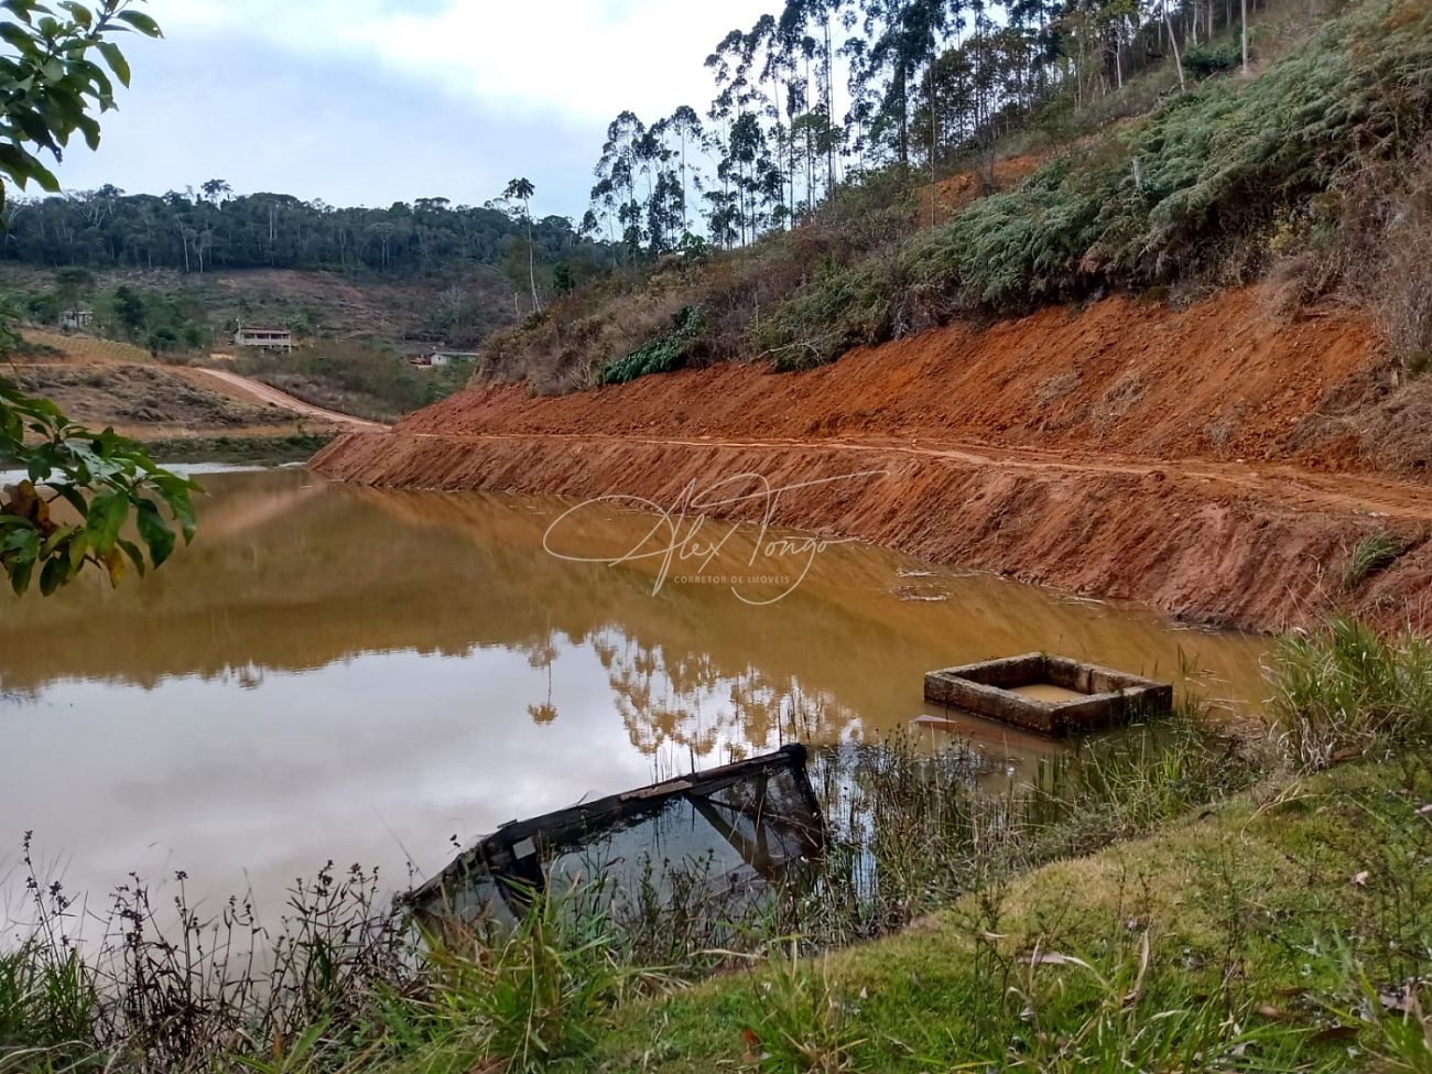
[(520, 116), (652, 119), (712, 95), (703, 60), (775, 0), (153, 0), (175, 43), (259, 37), (306, 59), (379, 64), (460, 99)]

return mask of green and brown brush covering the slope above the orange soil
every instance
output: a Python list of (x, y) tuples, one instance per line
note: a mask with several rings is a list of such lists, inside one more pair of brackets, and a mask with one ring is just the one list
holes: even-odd
[[(1126, 95), (1141, 92), (1131, 80)], [(839, 188), (789, 233), (558, 304), (494, 338), (488, 368), (540, 388), (584, 387), (594, 369), (583, 347), (599, 347), (600, 369), (693, 302), (715, 311), (696, 352), (792, 369), (957, 316), (1111, 288), (1240, 284), (1270, 269), (1292, 301), (1342, 289), (1373, 305), (1416, 368), (1432, 331), (1418, 245), (1429, 116), (1432, 6), (1366, 0), (1259, 77), (1227, 73), (1164, 93), (1147, 115), (1098, 129), (945, 223), (915, 231), (908, 209), (863, 219), (875, 205), (909, 206), (915, 180), (896, 165)]]

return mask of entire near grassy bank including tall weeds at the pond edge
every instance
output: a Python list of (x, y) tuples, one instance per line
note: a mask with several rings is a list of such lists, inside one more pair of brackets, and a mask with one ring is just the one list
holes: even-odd
[(1335, 623), (1280, 649), (1279, 735), (1186, 715), (1032, 788), (826, 755), (829, 851), (756, 908), (558, 892), (418, 957), (326, 871), (272, 934), (239, 901), (160, 938), (122, 892), (80, 958), (37, 884), (0, 1070), (1429, 1070), (1428, 654)]

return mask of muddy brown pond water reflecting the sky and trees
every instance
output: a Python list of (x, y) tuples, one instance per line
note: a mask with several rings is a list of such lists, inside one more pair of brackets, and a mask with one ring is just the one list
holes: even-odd
[[(158, 574), (0, 600), (11, 895), (26, 829), (90, 892), (183, 869), (192, 894), (251, 886), (262, 909), (329, 858), (397, 881), (453, 836), (693, 762), (904, 727), (927, 670), (991, 656), (1064, 653), (1226, 705), (1262, 692), (1259, 639), (856, 544), (743, 530), (703, 569), (700, 540), (650, 554), (664, 531), (623, 504), (558, 521), (570, 504), (299, 470), (203, 481), (200, 537)], [(968, 729), (997, 765), (1051, 749)]]

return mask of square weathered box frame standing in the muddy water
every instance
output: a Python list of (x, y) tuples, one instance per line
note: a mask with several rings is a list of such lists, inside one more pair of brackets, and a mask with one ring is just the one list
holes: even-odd
[[(1021, 687), (1054, 686), (1068, 699), (1045, 700)], [(1041, 735), (1116, 727), (1173, 709), (1173, 684), (1047, 653), (947, 667), (925, 676), (925, 700), (964, 709)]]

